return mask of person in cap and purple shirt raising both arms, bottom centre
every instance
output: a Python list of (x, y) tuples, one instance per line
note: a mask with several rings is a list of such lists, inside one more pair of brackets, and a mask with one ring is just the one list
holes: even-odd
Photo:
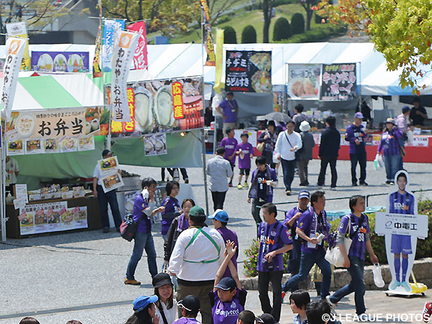
[[(236, 249), (234, 242), (226, 243), (226, 256), (217, 270), (215, 288), (210, 291), (213, 324), (236, 324), (239, 314), (245, 309), (247, 291), (242, 289), (237, 270), (231, 262)], [(222, 277), (228, 267), (233, 276)]]

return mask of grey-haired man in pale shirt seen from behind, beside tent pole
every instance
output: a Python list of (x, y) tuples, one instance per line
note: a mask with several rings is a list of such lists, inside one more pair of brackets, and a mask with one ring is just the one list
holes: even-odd
[(216, 149), (216, 156), (208, 160), (206, 173), (210, 176), (210, 191), (212, 192), (213, 208), (224, 209), (225, 195), (228, 191), (228, 178), (233, 176), (233, 169), (228, 160), (224, 159), (225, 148)]

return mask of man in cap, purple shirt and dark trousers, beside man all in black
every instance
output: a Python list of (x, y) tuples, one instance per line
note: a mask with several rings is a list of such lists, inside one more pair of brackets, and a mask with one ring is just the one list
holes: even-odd
[(351, 182), (357, 186), (355, 169), (360, 164), (360, 185), (366, 183), (366, 148), (364, 147), (363, 114), (359, 111), (354, 115), (354, 123), (346, 128), (345, 140), (350, 142)]

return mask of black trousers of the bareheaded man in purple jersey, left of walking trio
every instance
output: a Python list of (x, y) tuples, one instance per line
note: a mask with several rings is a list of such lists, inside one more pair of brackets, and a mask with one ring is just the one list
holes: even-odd
[[(268, 298), (268, 284), (272, 281), (273, 287), (273, 307), (270, 305)], [(281, 304), (282, 304), (282, 271), (258, 272), (258, 291), (259, 300), (261, 302), (261, 309), (263, 313), (272, 314), (276, 323), (279, 322), (281, 317)]]

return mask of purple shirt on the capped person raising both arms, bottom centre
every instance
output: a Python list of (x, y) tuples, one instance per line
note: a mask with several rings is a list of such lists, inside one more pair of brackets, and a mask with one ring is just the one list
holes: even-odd
[(231, 301), (221, 302), (217, 291), (211, 291), (210, 298), (214, 302), (212, 308), (213, 324), (236, 324), (238, 314), (245, 310), (246, 295), (245, 289), (237, 289), (237, 293)]

